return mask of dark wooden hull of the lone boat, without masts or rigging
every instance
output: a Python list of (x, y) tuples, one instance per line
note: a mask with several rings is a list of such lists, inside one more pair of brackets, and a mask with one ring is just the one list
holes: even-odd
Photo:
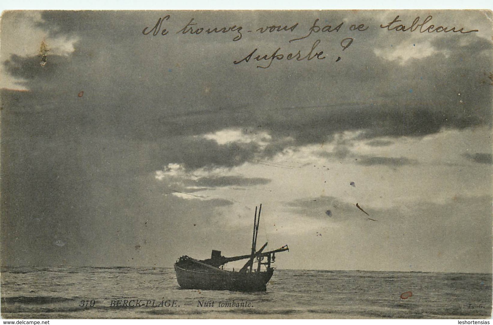
[(240, 273), (219, 268), (193, 268), (186, 263), (176, 262), (175, 272), (182, 289), (265, 291), (274, 269)]

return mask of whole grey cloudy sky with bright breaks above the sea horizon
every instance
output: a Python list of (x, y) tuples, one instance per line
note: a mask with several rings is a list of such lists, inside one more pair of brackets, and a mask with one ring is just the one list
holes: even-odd
[[(397, 15), (477, 32), (380, 28)], [(192, 18), (203, 33), (180, 32)], [(10, 11), (0, 27), (2, 265), (245, 254), (262, 203), (259, 242), (290, 248), (279, 268), (491, 272), (491, 12)]]

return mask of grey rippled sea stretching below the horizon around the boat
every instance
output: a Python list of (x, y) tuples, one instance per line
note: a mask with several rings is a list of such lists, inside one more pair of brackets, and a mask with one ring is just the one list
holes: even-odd
[(265, 292), (180, 289), (172, 268), (4, 267), (7, 319), (490, 318), (492, 274), (276, 270)]

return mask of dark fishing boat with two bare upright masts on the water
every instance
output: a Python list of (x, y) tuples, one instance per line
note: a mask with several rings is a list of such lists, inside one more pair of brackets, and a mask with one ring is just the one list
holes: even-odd
[[(271, 266), (276, 259), (276, 253), (289, 251), (287, 245), (280, 249), (264, 252), (265, 243), (258, 251), (257, 234), (260, 222), (260, 212), (255, 207), (253, 219), (253, 236), (251, 253), (233, 257), (221, 256), (220, 251), (212, 250), (211, 258), (200, 260), (188, 256), (181, 256), (175, 263), (176, 280), (182, 289), (209, 289), (231, 291), (265, 291), (266, 285), (274, 273)], [(264, 262), (264, 259), (267, 261)], [(227, 262), (248, 259), (239, 271), (224, 270)], [(254, 267), (256, 263), (256, 267)], [(262, 270), (262, 266), (264, 266)]]

